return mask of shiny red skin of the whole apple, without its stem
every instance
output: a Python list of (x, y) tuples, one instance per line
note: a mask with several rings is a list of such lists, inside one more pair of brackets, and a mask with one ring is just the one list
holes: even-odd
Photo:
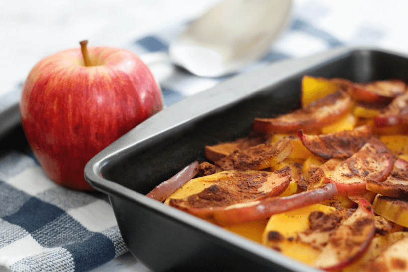
[(163, 108), (160, 87), (131, 51), (88, 47), (60, 51), (30, 71), (20, 101), (21, 125), (34, 155), (55, 183), (93, 190), (85, 164)]

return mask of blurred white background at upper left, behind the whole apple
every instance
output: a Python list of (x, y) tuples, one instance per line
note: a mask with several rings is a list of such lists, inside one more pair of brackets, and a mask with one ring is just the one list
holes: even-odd
[(1, 0), (0, 95), (43, 57), (62, 49), (125, 47), (157, 29), (198, 16), (218, 0)]

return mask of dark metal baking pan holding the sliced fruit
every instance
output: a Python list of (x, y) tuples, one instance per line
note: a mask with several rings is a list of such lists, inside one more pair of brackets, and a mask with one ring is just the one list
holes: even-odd
[(205, 145), (247, 135), (255, 117), (298, 107), (305, 74), (407, 81), (408, 58), (337, 48), (275, 63), (166, 108), (88, 162), (86, 180), (109, 195), (121, 234), (140, 262), (154, 271), (317, 271), (144, 196), (194, 160), (204, 161)]

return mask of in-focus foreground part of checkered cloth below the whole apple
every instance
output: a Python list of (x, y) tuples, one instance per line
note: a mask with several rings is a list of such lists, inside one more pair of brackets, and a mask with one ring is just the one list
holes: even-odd
[(1, 157), (2, 266), (13, 272), (88, 271), (126, 251), (106, 199), (54, 184), (31, 156), (11, 151)]

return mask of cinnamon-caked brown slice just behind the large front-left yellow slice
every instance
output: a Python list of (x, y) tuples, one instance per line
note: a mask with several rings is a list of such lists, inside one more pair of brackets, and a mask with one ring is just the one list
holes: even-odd
[(236, 149), (215, 162), (221, 170), (261, 170), (282, 162), (293, 150), (289, 139), (276, 143), (259, 144), (244, 150)]

